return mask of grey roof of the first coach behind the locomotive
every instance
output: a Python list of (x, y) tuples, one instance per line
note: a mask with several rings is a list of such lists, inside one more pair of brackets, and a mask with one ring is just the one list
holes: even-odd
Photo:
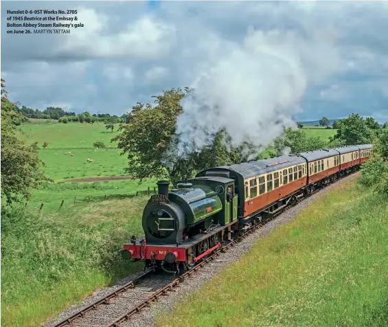
[(266, 174), (267, 172), (273, 172), (274, 170), (279, 170), (298, 164), (306, 164), (306, 160), (297, 155), (282, 155), (281, 157), (260, 159), (257, 161), (249, 161), (242, 164), (222, 166), (218, 168), (233, 170), (241, 174), (244, 179), (247, 179), (249, 177), (255, 177), (260, 174)]

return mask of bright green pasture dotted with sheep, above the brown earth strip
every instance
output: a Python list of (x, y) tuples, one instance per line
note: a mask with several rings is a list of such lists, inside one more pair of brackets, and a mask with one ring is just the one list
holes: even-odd
[[(117, 127), (118, 128), (118, 127)], [(117, 128), (111, 133), (104, 124), (47, 124), (23, 125), (19, 138), (26, 142), (38, 142), (39, 157), (45, 163), (47, 177), (55, 181), (82, 177), (124, 175), (127, 165), (125, 155), (111, 139), (117, 135)], [(93, 143), (102, 141), (107, 147), (93, 148)], [(47, 148), (42, 148), (49, 142)], [(67, 152), (71, 155), (65, 155)], [(87, 159), (93, 159), (88, 163)]]

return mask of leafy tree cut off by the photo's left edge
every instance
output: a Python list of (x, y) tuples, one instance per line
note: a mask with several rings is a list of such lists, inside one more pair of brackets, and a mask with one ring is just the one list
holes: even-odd
[(10, 204), (47, 178), (41, 170), (37, 144), (27, 145), (16, 138), (13, 122), (21, 114), (8, 100), (4, 87), (5, 81), (1, 79), (1, 197), (5, 196)]

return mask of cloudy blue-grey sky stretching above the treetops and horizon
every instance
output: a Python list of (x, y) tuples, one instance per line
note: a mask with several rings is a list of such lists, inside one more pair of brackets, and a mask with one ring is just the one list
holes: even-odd
[[(84, 27), (6, 34), (6, 10), (60, 8)], [(382, 1), (1, 1), (1, 78), (12, 101), (41, 110), (122, 115), (192, 86), (225, 95), (214, 103), (233, 114), (280, 106), (298, 121), (385, 122), (387, 17)]]

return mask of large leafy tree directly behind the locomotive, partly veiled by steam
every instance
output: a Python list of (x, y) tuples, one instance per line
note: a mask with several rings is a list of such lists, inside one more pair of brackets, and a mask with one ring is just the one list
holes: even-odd
[[(130, 176), (140, 179), (168, 177), (178, 181), (192, 177), (195, 172), (209, 166), (234, 164), (247, 160), (251, 154), (247, 145), (233, 148), (228, 146), (229, 135), (219, 131), (214, 142), (196, 153), (179, 156), (176, 135), (176, 119), (183, 112), (179, 102), (191, 89), (171, 89), (154, 96), (155, 105), (137, 103), (130, 112), (128, 124), (120, 126), (120, 133), (113, 141), (118, 142), (123, 155), (128, 155)], [(226, 142), (225, 142), (226, 141)], [(244, 155), (243, 155), (244, 154)]]

